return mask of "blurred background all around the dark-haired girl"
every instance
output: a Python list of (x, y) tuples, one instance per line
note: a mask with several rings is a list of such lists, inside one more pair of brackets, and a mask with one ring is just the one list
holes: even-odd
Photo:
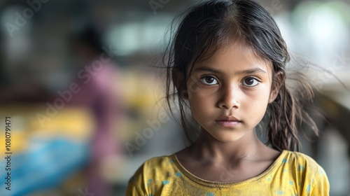
[[(197, 2), (0, 1), (0, 195), (124, 195), (142, 162), (183, 148), (154, 66), (174, 15)], [(350, 195), (350, 1), (259, 2), (295, 59), (314, 64), (321, 137), (302, 134), (301, 151), (331, 195)]]

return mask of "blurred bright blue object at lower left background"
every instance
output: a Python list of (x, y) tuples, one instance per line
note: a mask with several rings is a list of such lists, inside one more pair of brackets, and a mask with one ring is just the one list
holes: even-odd
[(6, 190), (7, 160), (1, 160), (1, 196), (23, 196), (55, 188), (89, 159), (87, 141), (77, 142), (65, 137), (32, 138), (29, 144), (27, 151), (11, 155), (11, 190)]

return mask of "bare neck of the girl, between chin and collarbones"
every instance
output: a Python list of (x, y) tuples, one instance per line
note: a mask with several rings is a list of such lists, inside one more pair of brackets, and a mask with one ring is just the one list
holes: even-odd
[(204, 162), (240, 162), (254, 159), (262, 149), (266, 148), (256, 136), (255, 130), (247, 133), (237, 141), (218, 141), (205, 130), (191, 146), (197, 160)]

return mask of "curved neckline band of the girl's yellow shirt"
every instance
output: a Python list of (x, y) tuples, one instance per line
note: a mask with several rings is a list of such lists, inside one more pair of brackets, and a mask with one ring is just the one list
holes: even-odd
[(179, 161), (179, 159), (177, 158), (175, 153), (172, 155), (172, 158), (174, 160), (174, 163), (176, 164), (176, 167), (178, 167), (179, 170), (185, 176), (187, 176), (190, 180), (194, 181), (195, 183), (200, 183), (201, 185), (208, 186), (208, 187), (227, 188), (230, 186), (241, 186), (241, 185), (244, 185), (246, 183), (252, 183), (254, 181), (258, 181), (259, 179), (267, 177), (269, 175), (269, 173), (271, 173), (275, 167), (278, 167), (279, 165), (281, 165), (280, 163), (282, 162), (283, 158), (286, 158), (287, 153), (288, 153), (288, 151), (283, 150), (281, 152), (281, 154), (279, 155), (279, 157), (276, 158), (276, 160), (274, 160), (274, 162), (272, 162), (272, 165), (270, 165), (264, 172), (262, 172), (258, 176), (255, 176), (251, 179), (246, 179), (244, 181), (239, 181), (239, 182), (218, 182), (218, 181), (207, 181), (207, 180), (201, 179), (200, 177), (195, 176), (194, 174), (190, 173), (185, 167), (183, 167), (183, 165), (181, 165), (181, 162)]

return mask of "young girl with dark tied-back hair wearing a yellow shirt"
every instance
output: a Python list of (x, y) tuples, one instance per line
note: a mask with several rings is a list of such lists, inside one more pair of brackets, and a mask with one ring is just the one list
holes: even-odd
[[(293, 152), (298, 125), (310, 119), (286, 87), (286, 43), (262, 6), (200, 3), (169, 47), (168, 104), (178, 101), (186, 133), (190, 109), (200, 133), (188, 148), (146, 161), (127, 195), (328, 195), (323, 169)], [(262, 118), (269, 146), (255, 133)]]

